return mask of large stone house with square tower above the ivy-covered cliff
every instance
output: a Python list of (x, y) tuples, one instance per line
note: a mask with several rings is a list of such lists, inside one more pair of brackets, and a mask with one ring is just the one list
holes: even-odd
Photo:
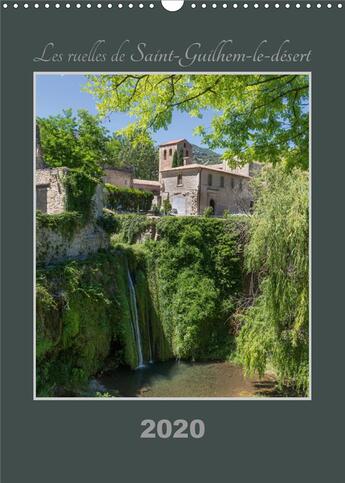
[[(184, 164), (172, 167), (174, 151), (184, 149)], [(192, 146), (185, 139), (159, 147), (161, 198), (168, 199), (178, 215), (200, 215), (211, 207), (216, 216), (248, 213), (252, 206), (250, 167), (231, 170), (224, 164), (192, 163)]]

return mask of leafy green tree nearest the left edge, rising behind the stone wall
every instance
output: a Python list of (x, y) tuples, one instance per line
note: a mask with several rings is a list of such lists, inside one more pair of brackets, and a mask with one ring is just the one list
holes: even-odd
[(119, 143), (111, 139), (101, 125), (99, 116), (72, 109), (62, 115), (37, 119), (44, 161), (48, 166), (80, 168), (99, 177), (102, 166), (111, 162), (119, 150)]

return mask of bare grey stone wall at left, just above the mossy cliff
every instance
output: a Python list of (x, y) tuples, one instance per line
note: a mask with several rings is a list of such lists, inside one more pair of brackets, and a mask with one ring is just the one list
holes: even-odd
[(108, 235), (94, 223), (77, 230), (71, 239), (49, 228), (36, 230), (36, 261), (48, 265), (68, 259), (86, 258), (101, 248), (108, 248)]

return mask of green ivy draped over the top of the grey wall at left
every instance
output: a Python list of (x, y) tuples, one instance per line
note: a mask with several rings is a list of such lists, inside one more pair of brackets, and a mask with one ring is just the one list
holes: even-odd
[(36, 226), (38, 229), (48, 228), (56, 231), (67, 240), (71, 240), (82, 225), (82, 216), (76, 211), (64, 211), (57, 214), (36, 212)]

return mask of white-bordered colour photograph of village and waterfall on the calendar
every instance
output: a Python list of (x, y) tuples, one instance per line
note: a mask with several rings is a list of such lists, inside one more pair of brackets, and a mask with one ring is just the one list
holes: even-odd
[(311, 397), (311, 74), (34, 73), (35, 399)]

